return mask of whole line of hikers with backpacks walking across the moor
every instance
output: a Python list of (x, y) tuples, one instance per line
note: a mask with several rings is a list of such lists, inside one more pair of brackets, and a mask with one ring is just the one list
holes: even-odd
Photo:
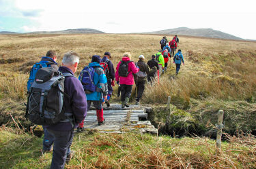
[[(163, 39), (167, 41), (166, 37)], [(70, 162), (74, 129), (77, 132), (83, 131), (83, 121), (91, 103), (96, 108), (98, 125), (104, 124), (102, 105), (106, 103), (107, 107), (110, 106), (115, 81), (121, 92), (122, 108), (129, 107), (134, 82), (136, 104), (139, 104), (145, 83), (153, 83), (156, 77), (159, 81), (160, 75), (167, 70), (168, 60), (173, 56), (169, 50), (171, 43), (167, 44), (161, 46), (162, 50), (152, 55), (147, 63), (143, 55), (139, 56), (137, 62), (133, 62), (131, 54), (124, 53), (116, 71), (110, 52), (104, 52), (102, 58), (94, 55), (79, 78), (74, 76), (79, 65), (79, 55), (76, 52), (64, 54), (61, 67), (57, 66), (57, 54), (53, 50), (49, 50), (40, 62), (33, 65), (27, 82), (29, 96), (26, 117), (34, 124), (43, 126), (43, 153), (53, 151), (51, 168), (64, 168)], [(177, 43), (175, 44), (177, 47)], [(176, 64), (177, 74), (181, 62), (184, 64), (181, 50), (175, 54), (173, 62)]]

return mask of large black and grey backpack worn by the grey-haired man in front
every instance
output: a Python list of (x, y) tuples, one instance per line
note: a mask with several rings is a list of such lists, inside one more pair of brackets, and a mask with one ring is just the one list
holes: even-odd
[(57, 124), (59, 121), (70, 121), (72, 124), (72, 112), (63, 110), (63, 97), (68, 96), (64, 93), (64, 80), (67, 76), (74, 77), (71, 73), (62, 74), (52, 67), (38, 70), (27, 98), (25, 117), (29, 121), (43, 126)]

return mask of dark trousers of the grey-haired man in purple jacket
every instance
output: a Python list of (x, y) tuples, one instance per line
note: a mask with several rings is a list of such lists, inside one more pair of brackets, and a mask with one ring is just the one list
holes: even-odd
[(64, 168), (66, 164), (67, 155), (70, 154), (70, 146), (72, 144), (74, 130), (72, 131), (55, 131), (48, 130), (49, 133), (53, 134), (54, 146), (53, 146), (53, 158), (51, 169)]

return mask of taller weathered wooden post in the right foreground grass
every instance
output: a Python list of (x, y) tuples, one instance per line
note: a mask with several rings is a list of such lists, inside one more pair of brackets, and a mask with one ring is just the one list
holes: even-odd
[(216, 124), (217, 128), (217, 138), (216, 138), (216, 151), (217, 153), (221, 153), (221, 135), (223, 129), (223, 110), (218, 111), (218, 124)]

